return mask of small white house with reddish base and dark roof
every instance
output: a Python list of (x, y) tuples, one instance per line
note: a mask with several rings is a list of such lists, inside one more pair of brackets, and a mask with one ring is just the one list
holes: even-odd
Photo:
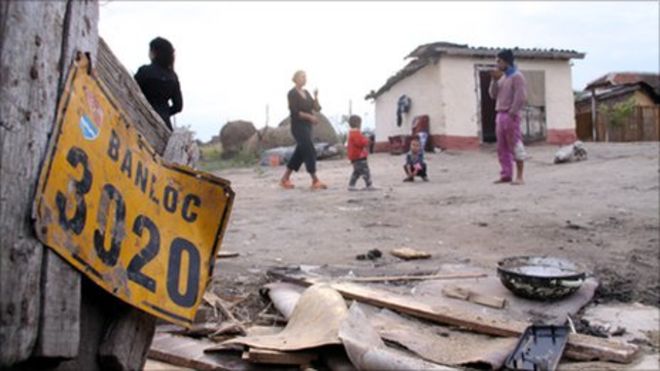
[[(527, 80), (528, 104), (522, 117), (526, 141), (552, 144), (576, 139), (571, 59), (584, 53), (556, 49), (513, 50)], [(476, 149), (495, 141), (495, 104), (488, 95), (488, 71), (502, 48), (437, 42), (417, 47), (401, 71), (366, 99), (376, 105), (376, 150), (389, 148), (388, 138), (410, 135), (413, 119), (428, 115), (433, 144), (443, 149)], [(399, 97), (411, 99), (397, 125)]]

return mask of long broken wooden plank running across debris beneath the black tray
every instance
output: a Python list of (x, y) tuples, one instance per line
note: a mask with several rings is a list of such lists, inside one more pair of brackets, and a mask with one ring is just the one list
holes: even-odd
[[(325, 282), (323, 279), (306, 276), (291, 276), (278, 271), (270, 271), (273, 277), (310, 286)], [(495, 336), (520, 336), (529, 323), (500, 318), (488, 318), (481, 314), (458, 311), (449, 306), (431, 306), (415, 301), (410, 296), (404, 296), (381, 289), (374, 289), (354, 283), (329, 283), (347, 299), (388, 308), (414, 317), (427, 319), (436, 323), (458, 326), (481, 334)], [(603, 360), (619, 363), (630, 363), (639, 347), (593, 336), (571, 334), (568, 338), (566, 355), (577, 360)]]

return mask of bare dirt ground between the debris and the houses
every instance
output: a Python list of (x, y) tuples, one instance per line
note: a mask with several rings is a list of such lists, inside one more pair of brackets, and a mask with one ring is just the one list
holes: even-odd
[[(319, 162), (328, 190), (278, 187), (283, 167), (231, 169), (236, 200), (214, 284), (240, 293), (285, 265), (337, 265), (379, 274), (434, 271), (443, 264), (496, 269), (515, 255), (555, 255), (581, 263), (600, 281), (596, 300), (659, 306), (658, 143), (587, 143), (589, 159), (555, 165), (557, 147), (531, 146), (524, 186), (495, 185), (494, 146), (427, 155), (430, 181), (403, 183), (402, 156), (369, 157), (379, 190), (347, 190), (346, 159)], [(359, 184), (361, 186), (362, 184)], [(403, 262), (397, 247), (433, 254)], [(371, 249), (384, 255), (356, 260)]]

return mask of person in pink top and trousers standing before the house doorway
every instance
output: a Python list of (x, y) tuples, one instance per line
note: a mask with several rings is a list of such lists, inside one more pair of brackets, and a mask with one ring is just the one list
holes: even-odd
[[(520, 110), (527, 102), (525, 78), (513, 63), (509, 49), (497, 53), (497, 69), (491, 72), (488, 92), (495, 99), (495, 127), (497, 157), (502, 171), (495, 183), (523, 184), (523, 165), (527, 154), (520, 132)], [(516, 162), (516, 180), (513, 180), (513, 162)]]

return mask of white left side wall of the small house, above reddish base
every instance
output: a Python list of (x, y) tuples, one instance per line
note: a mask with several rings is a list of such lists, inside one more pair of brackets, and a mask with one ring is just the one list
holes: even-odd
[[(440, 134), (440, 78), (438, 66), (429, 64), (413, 75), (396, 83), (376, 99), (376, 141), (387, 142), (393, 135), (409, 135), (415, 116), (429, 115), (431, 134)], [(401, 127), (396, 126), (396, 110), (401, 95), (410, 97), (410, 111), (403, 115)]]

